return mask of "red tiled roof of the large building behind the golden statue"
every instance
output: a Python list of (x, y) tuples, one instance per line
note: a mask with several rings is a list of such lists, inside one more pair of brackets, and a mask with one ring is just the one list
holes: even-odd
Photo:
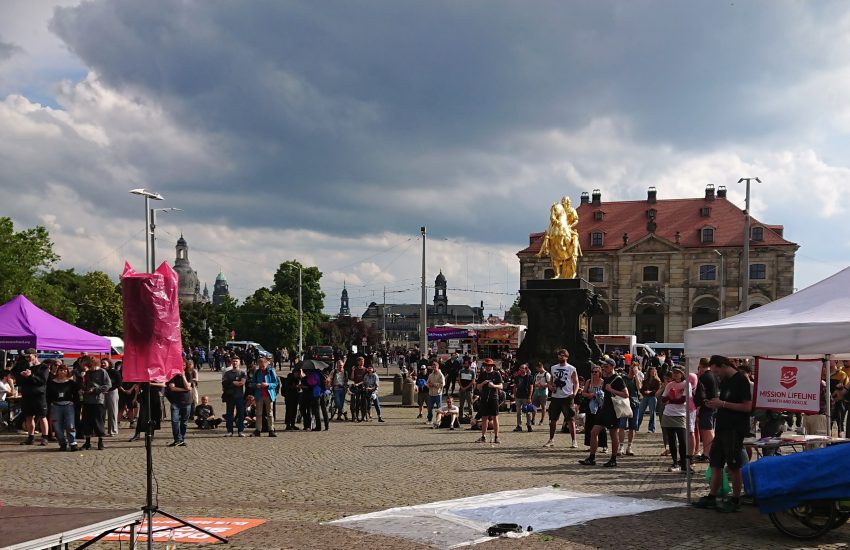
[[(710, 208), (707, 217), (701, 216), (703, 207)], [(655, 203), (643, 201), (620, 201), (601, 203), (594, 206), (590, 203), (581, 204), (576, 210), (579, 215), (578, 232), (581, 238), (581, 248), (584, 254), (596, 251), (612, 251), (623, 248), (623, 234), (628, 233), (629, 244), (634, 244), (649, 234), (647, 211), (655, 210), (655, 235), (676, 242), (679, 233), (679, 245), (684, 248), (723, 248), (740, 247), (744, 243), (744, 212), (726, 198), (714, 200), (698, 199), (666, 199)], [(596, 220), (594, 213), (602, 212), (602, 220)], [(541, 216), (545, 220), (545, 216)], [(750, 241), (750, 246), (794, 246), (791, 241), (780, 236), (781, 225), (768, 225), (755, 218), (750, 219), (750, 226), (764, 227), (764, 240)], [(700, 231), (704, 227), (714, 229), (714, 242), (703, 244), (700, 241)], [(603, 246), (591, 247), (591, 233), (602, 231)], [(529, 234), (529, 246), (520, 250), (517, 255), (536, 254), (543, 241), (543, 231)]]

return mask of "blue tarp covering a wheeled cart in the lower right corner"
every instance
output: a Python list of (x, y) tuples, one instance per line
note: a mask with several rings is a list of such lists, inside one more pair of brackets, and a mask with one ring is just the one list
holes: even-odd
[(784, 456), (766, 456), (744, 466), (744, 490), (762, 513), (809, 500), (850, 499), (850, 443)]

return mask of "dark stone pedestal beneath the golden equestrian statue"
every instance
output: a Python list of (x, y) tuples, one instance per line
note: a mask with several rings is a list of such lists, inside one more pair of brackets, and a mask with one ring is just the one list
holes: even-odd
[(589, 377), (591, 353), (580, 321), (595, 305), (593, 285), (584, 279), (536, 279), (528, 281), (519, 294), (519, 306), (528, 315), (528, 331), (517, 359), (532, 368), (542, 361), (548, 369), (558, 362), (557, 350), (566, 348), (579, 376)]

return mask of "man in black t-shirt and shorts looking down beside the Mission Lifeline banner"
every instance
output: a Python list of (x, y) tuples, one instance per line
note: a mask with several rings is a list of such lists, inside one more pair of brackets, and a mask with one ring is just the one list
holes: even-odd
[[(705, 405), (717, 410), (714, 443), (711, 446), (711, 488), (708, 496), (694, 503), (698, 508), (716, 508), (719, 512), (737, 512), (740, 509), (741, 467), (743, 466), (744, 437), (750, 431), (752, 389), (749, 379), (738, 372), (728, 357), (712, 355), (708, 360), (711, 372), (720, 380), (719, 397), (706, 399)], [(726, 466), (732, 482), (732, 497), (726, 502), (717, 501), (717, 491), (723, 480)]]

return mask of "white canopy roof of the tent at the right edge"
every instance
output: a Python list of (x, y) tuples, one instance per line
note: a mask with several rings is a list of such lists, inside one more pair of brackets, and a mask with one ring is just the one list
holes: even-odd
[(848, 352), (850, 267), (781, 300), (685, 331), (688, 357)]

